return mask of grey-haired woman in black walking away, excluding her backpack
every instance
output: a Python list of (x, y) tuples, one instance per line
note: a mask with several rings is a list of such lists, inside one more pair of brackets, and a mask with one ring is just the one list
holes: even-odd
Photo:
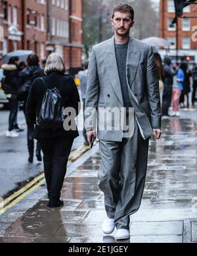
[(66, 165), (73, 141), (79, 136), (77, 128), (64, 130), (62, 124), (62, 127), (57, 129), (53, 129), (51, 126), (44, 129), (36, 122), (47, 89), (58, 88), (62, 98), (62, 106), (64, 108), (72, 107), (78, 115), (79, 93), (74, 79), (64, 73), (65, 65), (62, 57), (57, 53), (49, 55), (45, 66), (46, 76), (37, 78), (33, 82), (26, 108), (28, 118), (34, 124), (36, 123), (32, 136), (41, 143), (44, 155), (45, 179), (49, 193), (48, 207), (63, 205), (63, 201), (60, 200), (60, 192), (66, 175)]

